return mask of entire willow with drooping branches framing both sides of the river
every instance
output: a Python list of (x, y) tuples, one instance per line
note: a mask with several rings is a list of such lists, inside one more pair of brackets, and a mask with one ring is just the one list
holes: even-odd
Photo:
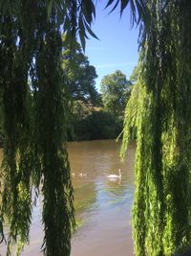
[[(130, 4), (140, 22), (138, 99), (126, 108), (124, 148), (137, 128), (133, 224), (136, 254), (172, 255), (190, 244), (191, 3), (109, 0)], [(137, 15), (138, 13), (138, 15)], [(73, 188), (66, 151), (68, 105), (61, 71), (61, 31), (83, 48), (93, 1), (0, 0), (0, 104), (4, 133), (0, 233), (10, 223), (8, 255), (29, 240), (32, 188), (43, 177), (46, 255), (70, 254)], [(133, 121), (128, 117), (132, 117)], [(131, 130), (130, 130), (131, 128)]]

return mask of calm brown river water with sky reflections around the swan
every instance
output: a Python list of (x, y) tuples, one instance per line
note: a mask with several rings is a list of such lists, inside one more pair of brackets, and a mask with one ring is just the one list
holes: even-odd
[[(130, 145), (121, 164), (118, 157), (120, 142), (102, 140), (68, 144), (79, 223), (72, 239), (71, 256), (133, 255), (130, 221), (135, 148), (135, 144)], [(122, 169), (120, 180), (107, 178), (108, 174), (118, 175), (119, 168)], [(41, 205), (39, 198), (33, 209), (31, 243), (25, 246), (22, 256), (42, 255)], [(1, 256), (5, 255), (3, 247), (1, 244)]]

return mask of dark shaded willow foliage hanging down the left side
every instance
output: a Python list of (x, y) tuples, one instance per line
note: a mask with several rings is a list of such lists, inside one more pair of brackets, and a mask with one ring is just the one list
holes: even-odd
[(46, 255), (70, 255), (74, 197), (66, 149), (69, 110), (61, 33), (71, 41), (77, 32), (84, 46), (85, 28), (92, 33), (94, 15), (92, 1), (0, 1), (0, 242), (6, 240), (8, 255), (11, 244), (17, 244), (19, 254), (29, 242), (33, 195), (41, 179), (42, 249)]

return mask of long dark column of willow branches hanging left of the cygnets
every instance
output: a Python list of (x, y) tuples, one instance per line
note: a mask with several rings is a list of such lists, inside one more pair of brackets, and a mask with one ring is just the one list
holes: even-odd
[(65, 145), (67, 107), (62, 89), (62, 41), (60, 33), (54, 31), (54, 19), (47, 24), (43, 37), (36, 56), (34, 94), (35, 109), (39, 109), (35, 116), (36, 145), (44, 176), (43, 248), (46, 255), (69, 255), (74, 228), (73, 189)]

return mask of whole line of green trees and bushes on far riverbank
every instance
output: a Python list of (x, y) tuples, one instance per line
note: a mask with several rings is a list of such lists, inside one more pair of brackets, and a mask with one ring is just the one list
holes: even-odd
[(66, 45), (63, 70), (68, 81), (68, 140), (117, 138), (122, 130), (126, 101), (133, 82), (119, 70), (105, 76), (96, 90), (96, 68), (74, 43), (73, 54)]

